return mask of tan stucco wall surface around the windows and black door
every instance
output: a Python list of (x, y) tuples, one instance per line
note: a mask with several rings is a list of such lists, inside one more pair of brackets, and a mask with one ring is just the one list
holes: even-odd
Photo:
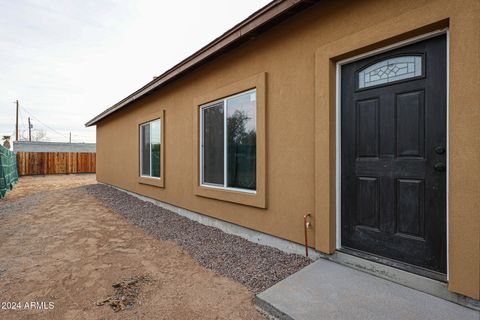
[[(97, 179), (192, 211), (335, 249), (335, 61), (450, 30), (449, 288), (480, 297), (480, 2), (331, 1), (277, 26), (97, 125)], [(266, 209), (194, 194), (199, 96), (266, 73)], [(137, 122), (165, 110), (164, 188), (139, 184)]]

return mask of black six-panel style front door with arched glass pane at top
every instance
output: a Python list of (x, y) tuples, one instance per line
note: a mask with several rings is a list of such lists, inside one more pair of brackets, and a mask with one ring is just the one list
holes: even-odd
[(445, 36), (342, 66), (342, 247), (446, 273), (446, 90)]

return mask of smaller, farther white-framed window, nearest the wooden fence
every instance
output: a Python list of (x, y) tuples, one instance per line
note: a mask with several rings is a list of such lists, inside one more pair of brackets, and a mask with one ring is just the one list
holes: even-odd
[(140, 125), (140, 176), (160, 178), (161, 121), (156, 119)]

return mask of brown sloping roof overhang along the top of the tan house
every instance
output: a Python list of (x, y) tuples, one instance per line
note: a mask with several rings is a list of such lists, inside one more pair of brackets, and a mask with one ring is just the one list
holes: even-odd
[(138, 89), (123, 100), (106, 109), (92, 120), (88, 121), (85, 126), (95, 125), (100, 120), (106, 118), (110, 114), (126, 107), (132, 102), (151, 93), (153, 90), (167, 85), (185, 75), (188, 72), (214, 60), (218, 56), (240, 46), (248, 40), (251, 40), (268, 29), (278, 25), (279, 23), (291, 18), (292, 16), (304, 11), (312, 5), (318, 3), (318, 0), (274, 0), (253, 13), (247, 19), (243, 20), (220, 37), (216, 38), (205, 47), (201, 48), (185, 60), (181, 61), (171, 69), (167, 70), (142, 88)]

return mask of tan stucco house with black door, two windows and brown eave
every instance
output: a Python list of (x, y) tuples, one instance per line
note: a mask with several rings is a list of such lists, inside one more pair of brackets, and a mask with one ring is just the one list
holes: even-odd
[(97, 179), (298, 244), (310, 214), (316, 251), (478, 300), (479, 21), (477, 0), (273, 1), (86, 124)]

